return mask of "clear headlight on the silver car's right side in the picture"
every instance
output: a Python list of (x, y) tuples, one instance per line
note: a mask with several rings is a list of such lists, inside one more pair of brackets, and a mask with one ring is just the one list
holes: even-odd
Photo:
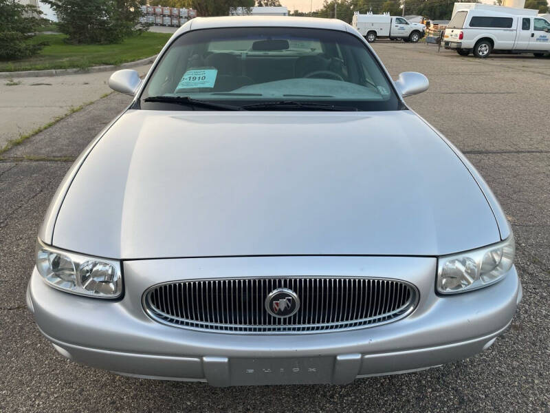
[(437, 291), (463, 293), (498, 282), (514, 264), (514, 235), (503, 242), (439, 257)]

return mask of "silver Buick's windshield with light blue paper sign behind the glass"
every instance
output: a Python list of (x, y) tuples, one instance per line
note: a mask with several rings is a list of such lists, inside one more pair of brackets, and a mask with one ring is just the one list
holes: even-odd
[[(186, 98), (184, 101), (181, 98)], [(179, 36), (141, 96), (142, 109), (189, 110), (192, 101), (270, 110), (396, 110), (399, 99), (357, 37), (305, 28), (220, 28)], [(182, 104), (183, 103), (183, 104)], [(306, 105), (307, 104), (307, 105)], [(203, 105), (204, 106), (204, 105)]]

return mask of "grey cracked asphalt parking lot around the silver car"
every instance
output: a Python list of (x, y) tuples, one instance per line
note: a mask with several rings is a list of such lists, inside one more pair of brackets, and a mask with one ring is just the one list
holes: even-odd
[(422, 72), (407, 102), (481, 172), (516, 236), (524, 299), (510, 328), (472, 359), (342, 386), (212, 388), (119, 377), (59, 356), (25, 306), (41, 219), (72, 160), (128, 96), (111, 94), (0, 160), (1, 412), (549, 412), (550, 59), (464, 58), (423, 43), (374, 43), (394, 78)]

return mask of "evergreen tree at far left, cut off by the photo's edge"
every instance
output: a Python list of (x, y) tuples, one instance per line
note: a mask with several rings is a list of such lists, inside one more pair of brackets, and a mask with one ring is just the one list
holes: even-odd
[(41, 12), (15, 0), (0, 0), (0, 59), (23, 59), (38, 53), (46, 43), (31, 44)]

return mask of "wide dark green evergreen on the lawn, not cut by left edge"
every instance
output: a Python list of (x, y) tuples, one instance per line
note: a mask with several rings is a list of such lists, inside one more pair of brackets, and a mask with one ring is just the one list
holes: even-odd
[(142, 32), (139, 0), (43, 0), (57, 13), (58, 28), (67, 42), (119, 43)]

